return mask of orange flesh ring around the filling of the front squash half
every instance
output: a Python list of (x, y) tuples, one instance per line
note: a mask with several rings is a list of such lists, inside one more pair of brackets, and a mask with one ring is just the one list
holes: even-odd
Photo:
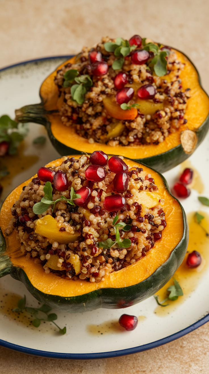
[[(165, 187), (161, 175), (159, 175), (156, 171), (153, 171), (153, 169), (136, 163), (133, 160), (124, 159), (124, 161), (127, 163), (127, 165), (129, 165), (129, 167), (142, 166), (147, 173), (150, 173), (159, 188), (158, 194), (161, 196), (161, 199), (165, 200), (163, 209), (165, 212), (167, 226), (163, 230), (162, 239), (157, 241), (153, 249), (137, 263), (130, 265), (125, 269), (111, 273), (110, 275), (106, 276), (103, 282), (90, 283), (82, 280), (66, 280), (57, 277), (53, 273), (46, 274), (41, 264), (35, 264), (34, 260), (32, 259), (26, 260), (25, 256), (22, 255), (19, 250), (20, 243), (16, 240), (16, 232), (14, 230), (10, 236), (6, 237), (7, 249), (5, 254), (9, 255), (14, 266), (20, 267), (24, 270), (28, 276), (29, 282), (31, 282), (36, 289), (47, 295), (58, 295), (60, 297), (68, 298), (75, 297), (77, 295), (84, 295), (91, 291), (103, 288), (124, 288), (136, 285), (137, 283), (149, 278), (149, 276), (151, 276), (155, 270), (164, 264), (165, 261), (167, 261), (170, 257), (174, 248), (178, 245), (178, 243), (180, 243), (184, 232), (183, 211), (180, 203)], [(62, 159), (57, 159), (48, 163), (46, 166), (58, 166), (61, 164), (61, 162)], [(13, 206), (15, 201), (18, 200), (22, 187), (28, 184), (32, 178), (16, 187), (15, 190), (13, 190), (4, 201), (0, 214), (0, 226), (3, 232), (12, 217), (10, 208)]]

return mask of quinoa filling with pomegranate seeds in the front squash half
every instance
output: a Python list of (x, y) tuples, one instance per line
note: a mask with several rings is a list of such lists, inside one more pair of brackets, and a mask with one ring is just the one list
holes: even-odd
[[(123, 156), (111, 157), (108, 164), (105, 161), (107, 165), (100, 157), (98, 162), (104, 166), (95, 165), (92, 156), (99, 152), (103, 157), (103, 152), (95, 151), (90, 159), (86, 155), (63, 157), (60, 166), (40, 168), (39, 177), (23, 187), (11, 209), (13, 217), (6, 235), (15, 229), (23, 255), (42, 264), (47, 274), (100, 282), (108, 273), (146, 256), (162, 237), (164, 200), (159, 199), (152, 175), (142, 168), (128, 169)], [(123, 172), (111, 171), (115, 166)], [(51, 182), (46, 182), (47, 178), (52, 178)], [(46, 185), (52, 187), (53, 203), (60, 200), (35, 214), (34, 207), (46, 195)], [(140, 203), (145, 194), (151, 199), (149, 208)], [(45, 235), (38, 230), (41, 222), (47, 222), (43, 225), (49, 230)]]

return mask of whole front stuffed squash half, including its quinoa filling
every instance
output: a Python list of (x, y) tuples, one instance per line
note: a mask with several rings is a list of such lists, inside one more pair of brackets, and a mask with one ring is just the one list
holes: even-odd
[(95, 151), (50, 162), (0, 211), (0, 276), (67, 312), (155, 294), (186, 254), (188, 226), (161, 174)]

